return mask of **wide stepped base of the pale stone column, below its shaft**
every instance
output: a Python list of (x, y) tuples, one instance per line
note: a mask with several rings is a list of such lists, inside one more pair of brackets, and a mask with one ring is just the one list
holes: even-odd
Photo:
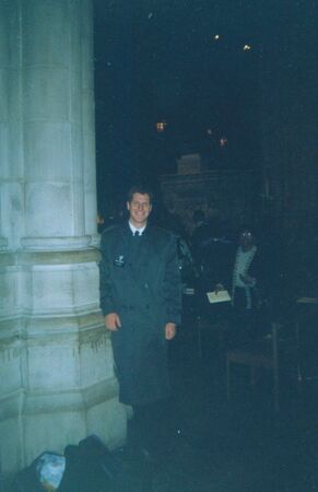
[(127, 409), (118, 401), (111, 343), (95, 302), (97, 259), (95, 249), (0, 254), (12, 298), (16, 278), (27, 286), (25, 307), (0, 319), (7, 476), (91, 434), (110, 449), (125, 443)]

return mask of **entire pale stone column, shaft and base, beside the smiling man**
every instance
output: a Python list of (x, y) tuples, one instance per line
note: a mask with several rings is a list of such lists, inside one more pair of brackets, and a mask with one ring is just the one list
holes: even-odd
[(91, 0), (0, 0), (0, 460), (125, 440), (98, 307)]

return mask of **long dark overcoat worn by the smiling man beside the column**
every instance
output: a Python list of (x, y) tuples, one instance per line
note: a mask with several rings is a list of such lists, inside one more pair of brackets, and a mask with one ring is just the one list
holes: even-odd
[(127, 224), (102, 236), (101, 308), (117, 313), (121, 328), (111, 332), (119, 399), (144, 405), (169, 393), (166, 323), (180, 323), (181, 282), (176, 237), (146, 226), (133, 237)]

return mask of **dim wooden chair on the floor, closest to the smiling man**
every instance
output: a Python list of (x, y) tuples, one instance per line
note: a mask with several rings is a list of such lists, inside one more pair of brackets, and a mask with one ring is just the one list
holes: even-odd
[[(271, 333), (262, 340), (251, 344), (232, 349), (226, 352), (226, 393), (227, 399), (231, 399), (231, 370), (233, 364), (245, 365), (250, 371), (250, 384), (256, 383), (256, 371), (271, 371), (273, 376), (273, 396), (274, 410), (280, 410), (280, 343), (283, 344), (284, 351), (296, 350), (296, 339), (294, 333), (280, 340), (282, 325), (280, 323), (271, 324)], [(292, 349), (293, 347), (293, 349)], [(296, 353), (296, 352), (294, 352)], [(297, 364), (297, 363), (296, 363)], [(295, 364), (295, 366), (296, 366)]]

